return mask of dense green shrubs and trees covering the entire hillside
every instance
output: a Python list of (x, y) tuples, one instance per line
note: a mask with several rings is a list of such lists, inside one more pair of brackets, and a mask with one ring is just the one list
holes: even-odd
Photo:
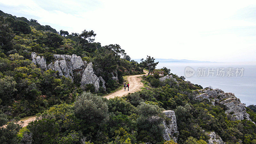
[[(145, 89), (110, 100), (100, 93), (83, 92), (79, 83), (34, 65), (31, 52), (40, 53), (48, 61), (55, 53), (81, 56), (93, 63), (97, 76), (107, 79), (107, 91), (118, 87), (108, 79), (114, 70), (121, 77), (140, 74), (142, 68), (154, 69), (157, 62), (149, 56), (140, 64), (130, 61), (119, 45), (95, 43), (93, 31), (55, 33), (44, 26), (39, 29), (41, 25), (35, 26), (35, 20), (0, 14), (0, 125), (11, 121), (0, 128), (0, 143), (164, 143), (164, 109), (175, 111), (178, 143), (204, 144), (212, 131), (226, 143), (256, 143), (252, 122), (231, 121), (224, 107), (212, 106), (208, 100), (196, 101), (194, 97), (202, 86), (170, 74), (165, 67), (161, 69), (164, 75), (172, 75), (177, 81), (161, 82), (157, 74), (143, 76)], [(255, 109), (247, 108), (254, 122)], [(26, 128), (16, 123), (19, 117), (35, 114), (38, 120)]]

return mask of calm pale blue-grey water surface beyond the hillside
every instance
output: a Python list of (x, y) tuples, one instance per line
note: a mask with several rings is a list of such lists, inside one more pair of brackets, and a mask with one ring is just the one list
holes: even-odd
[[(187, 77), (186, 80), (193, 84), (205, 87), (211, 85), (213, 88), (219, 88), (224, 92), (232, 92), (242, 103), (248, 105), (256, 105), (256, 64), (255, 63), (165, 63), (159, 62), (157, 68), (167, 67), (171, 69), (171, 73), (178, 76), (185, 76), (185, 68), (191, 67), (195, 70), (195, 75)], [(205, 76), (198, 77), (197, 69), (206, 68)], [(244, 68), (243, 76), (214, 76), (207, 77), (208, 68), (216, 70), (217, 68)], [(226, 73), (225, 73), (226, 75)]]

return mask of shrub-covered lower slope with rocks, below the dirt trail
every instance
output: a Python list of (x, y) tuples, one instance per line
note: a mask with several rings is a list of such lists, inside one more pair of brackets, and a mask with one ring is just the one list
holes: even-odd
[[(256, 142), (255, 106), (244, 111), (243, 104), (234, 102), (239, 102), (234, 95), (219, 89), (201, 89), (182, 79), (172, 74), (162, 78), (143, 76), (146, 88), (123, 98), (107, 100), (88, 92), (79, 94), (73, 104), (54, 105), (37, 114), (38, 120), (26, 128), (20, 130), (19, 125), (9, 123), (7, 128), (1, 128), (1, 142)], [(225, 103), (230, 100), (233, 102)], [(250, 118), (234, 119), (239, 108)]]

